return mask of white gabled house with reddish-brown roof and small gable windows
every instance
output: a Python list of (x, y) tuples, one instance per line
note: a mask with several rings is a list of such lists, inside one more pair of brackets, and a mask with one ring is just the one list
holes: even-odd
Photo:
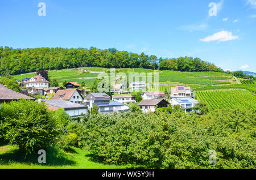
[(81, 104), (84, 101), (82, 95), (77, 89), (61, 89), (52, 97), (53, 100), (65, 100)]

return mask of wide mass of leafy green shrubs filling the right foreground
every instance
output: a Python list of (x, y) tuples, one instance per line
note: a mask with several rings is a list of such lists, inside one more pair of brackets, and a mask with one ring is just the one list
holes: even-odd
[[(68, 131), (92, 157), (146, 168), (255, 168), (255, 112), (216, 110), (209, 115), (113, 113), (85, 116)], [(209, 161), (216, 151), (217, 163)]]

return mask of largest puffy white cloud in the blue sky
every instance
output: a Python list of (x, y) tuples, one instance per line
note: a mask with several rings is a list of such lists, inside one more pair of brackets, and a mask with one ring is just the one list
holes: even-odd
[(230, 40), (236, 40), (238, 39), (238, 36), (233, 36), (232, 32), (228, 32), (228, 31), (220, 31), (215, 33), (212, 36), (207, 36), (205, 38), (201, 38), (200, 41), (203, 42), (210, 42), (210, 41), (230, 41)]

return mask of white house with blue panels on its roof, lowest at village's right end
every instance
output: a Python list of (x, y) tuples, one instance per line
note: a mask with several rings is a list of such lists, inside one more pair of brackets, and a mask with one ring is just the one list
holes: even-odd
[(171, 99), (171, 105), (180, 105), (181, 108), (184, 109), (184, 112), (191, 112), (193, 110), (193, 107), (198, 103), (197, 100), (195, 100), (192, 97), (181, 97), (181, 98), (172, 98)]

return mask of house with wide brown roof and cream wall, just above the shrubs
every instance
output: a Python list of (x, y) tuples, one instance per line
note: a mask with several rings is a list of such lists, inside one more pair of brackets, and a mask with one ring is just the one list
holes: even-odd
[(142, 109), (143, 113), (154, 113), (155, 108), (168, 107), (170, 103), (164, 100), (163, 98), (157, 98), (154, 100), (142, 100), (139, 102), (138, 106)]

